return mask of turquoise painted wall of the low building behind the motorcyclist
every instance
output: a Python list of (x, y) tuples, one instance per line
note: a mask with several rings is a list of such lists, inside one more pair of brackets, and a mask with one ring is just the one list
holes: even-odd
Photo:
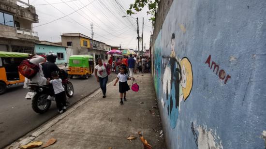
[(35, 44), (35, 52), (37, 54), (43, 53), (43, 54), (48, 54), (49, 52), (53, 52), (55, 54), (57, 53), (63, 53), (64, 54), (64, 59), (57, 59), (56, 64), (64, 64), (67, 62), (67, 55), (66, 55), (66, 48), (62, 46), (53, 46), (53, 45), (39, 45)]

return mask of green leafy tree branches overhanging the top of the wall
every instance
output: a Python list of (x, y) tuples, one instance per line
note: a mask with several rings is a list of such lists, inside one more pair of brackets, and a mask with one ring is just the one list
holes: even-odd
[(133, 11), (140, 12), (142, 11), (142, 8), (148, 6), (147, 14), (151, 15), (151, 18), (149, 18), (149, 20), (152, 21), (152, 26), (154, 26), (155, 15), (158, 10), (158, 4), (159, 0), (135, 0), (134, 3), (130, 4), (129, 10), (127, 10), (127, 14), (133, 15), (135, 14)]

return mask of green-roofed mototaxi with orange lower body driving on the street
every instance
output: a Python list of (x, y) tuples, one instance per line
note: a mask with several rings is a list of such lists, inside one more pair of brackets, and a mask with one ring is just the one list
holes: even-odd
[(93, 57), (89, 55), (73, 55), (69, 58), (69, 71), (70, 78), (73, 76), (89, 78), (94, 71)]

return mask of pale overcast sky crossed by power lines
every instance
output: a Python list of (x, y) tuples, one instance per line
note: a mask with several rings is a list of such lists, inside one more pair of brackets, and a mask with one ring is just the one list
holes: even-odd
[[(22, 0), (28, 2), (28, 0)], [(93, 23), (94, 40), (107, 45), (122, 48), (137, 48), (137, 23), (139, 18), (139, 36), (142, 36), (144, 22), (144, 40), (149, 48), (151, 21), (148, 8), (129, 17), (126, 10), (134, 0), (29, 0), (36, 9), (39, 23), (33, 24), (40, 41), (61, 42), (63, 33), (82, 33), (91, 37)], [(144, 17), (144, 21), (142, 21)], [(140, 50), (142, 49), (140, 43)]]

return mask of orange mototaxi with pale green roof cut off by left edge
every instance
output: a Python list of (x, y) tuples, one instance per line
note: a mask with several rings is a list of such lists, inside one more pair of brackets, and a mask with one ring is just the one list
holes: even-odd
[(21, 61), (30, 54), (0, 51), (0, 94), (6, 92), (7, 86), (24, 82), (25, 77), (18, 72)]

